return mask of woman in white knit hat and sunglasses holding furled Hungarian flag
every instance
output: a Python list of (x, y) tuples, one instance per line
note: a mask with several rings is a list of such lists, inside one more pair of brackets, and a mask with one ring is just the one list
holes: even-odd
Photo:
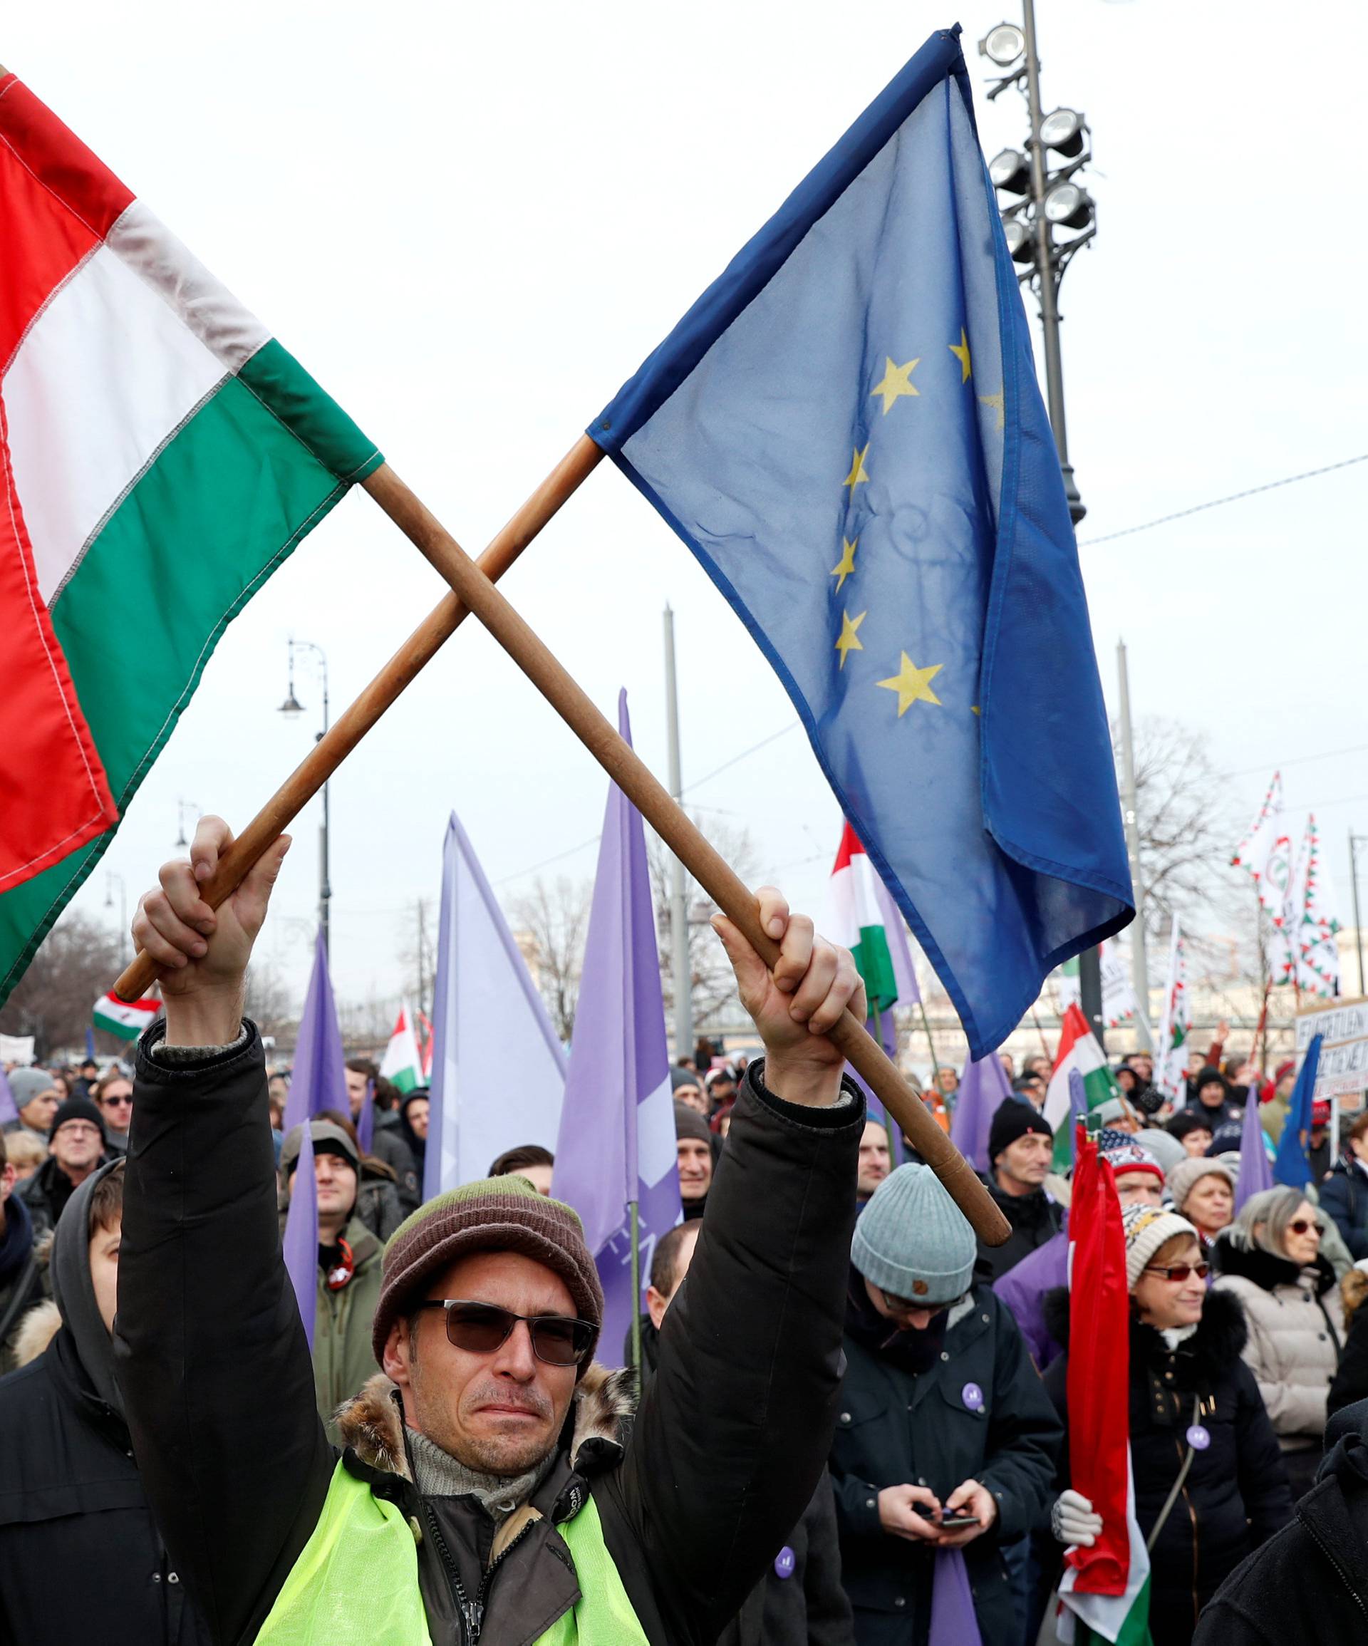
[[(1207, 1289), (1197, 1228), (1175, 1211), (1128, 1207), (1131, 1290), (1129, 1429), (1136, 1521), (1151, 1546), (1149, 1634), (1187, 1646), (1197, 1616), (1251, 1549), (1292, 1516), (1292, 1498), (1249, 1368), (1233, 1297)], [(1049, 1299), (1068, 1341), (1068, 1292)], [(1068, 1429), (1068, 1355), (1045, 1389)], [(1068, 1453), (1050, 1526), (1065, 1547), (1091, 1546), (1101, 1518), (1070, 1488)]]

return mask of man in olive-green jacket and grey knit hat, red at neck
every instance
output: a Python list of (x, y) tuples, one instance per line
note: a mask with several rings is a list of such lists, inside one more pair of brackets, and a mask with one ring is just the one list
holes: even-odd
[[(380, 1302), (382, 1248), (356, 1216), (361, 1162), (356, 1144), (328, 1119), (309, 1123), (318, 1193), (318, 1304), (313, 1325), (313, 1386), (324, 1424), (375, 1371), (370, 1327)], [(305, 1128), (291, 1126), (280, 1147), (286, 1207)], [(282, 1230), (285, 1228), (282, 1213)], [(329, 1430), (336, 1439), (336, 1430)]]

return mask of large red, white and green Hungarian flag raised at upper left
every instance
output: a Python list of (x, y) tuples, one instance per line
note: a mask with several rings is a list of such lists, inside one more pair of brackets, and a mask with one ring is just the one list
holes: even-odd
[(0, 1002), (229, 621), (380, 453), (0, 76)]

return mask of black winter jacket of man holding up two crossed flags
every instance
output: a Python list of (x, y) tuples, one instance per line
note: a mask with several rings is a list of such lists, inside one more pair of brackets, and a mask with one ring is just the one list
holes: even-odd
[[(216, 1646), (229, 1646), (270, 1611), (336, 1453), (280, 1256), (260, 1037), (249, 1024), (237, 1045), (163, 1065), (150, 1057), (161, 1034), (138, 1047), (115, 1365), (148, 1498)], [(630, 1444), (581, 1440), (578, 1427), (571, 1439), (576, 1401), (530, 1500), (542, 1519), (489, 1575), (494, 1523), (477, 1500), (421, 1498), (393, 1472), (402, 1447), (384, 1467), (344, 1453), (405, 1519), (436, 1521), (441, 1536), (418, 1542), (433, 1646), (469, 1639), (443, 1549), (468, 1593), (484, 1582), (482, 1646), (535, 1639), (570, 1610), (556, 1521), (586, 1493), (652, 1646), (711, 1646), (789, 1539), (836, 1417), (864, 1104), (848, 1083), (838, 1108), (792, 1106), (762, 1078), (752, 1063)]]

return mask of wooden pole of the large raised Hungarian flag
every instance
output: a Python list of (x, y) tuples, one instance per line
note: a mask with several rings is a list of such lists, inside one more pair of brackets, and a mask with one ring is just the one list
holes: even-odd
[[(772, 968), (779, 961), (779, 945), (762, 930), (751, 889), (695, 828), (683, 807), (657, 782), (630, 744), (619, 736), (617, 728), (599, 713), (522, 616), (392, 469), (379, 469), (365, 486), (385, 514), (446, 578), (461, 597), (461, 604), (479, 617), (542, 691), (713, 902), (746, 935), (761, 960)], [(991, 1246), (1001, 1246), (1011, 1234), (1007, 1220), (993, 1203), (973, 1167), (937, 1126), (927, 1106), (854, 1012), (846, 1009), (830, 1030), (830, 1039), (892, 1113), (904, 1136), (942, 1180), (978, 1236)]]

